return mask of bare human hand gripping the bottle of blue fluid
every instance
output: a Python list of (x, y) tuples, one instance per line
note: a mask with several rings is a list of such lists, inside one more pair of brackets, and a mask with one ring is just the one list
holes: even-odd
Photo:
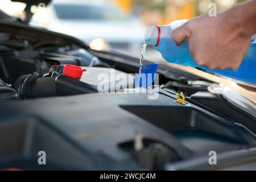
[(237, 69), (246, 54), (251, 35), (229, 11), (188, 20), (172, 32), (179, 46), (188, 39), (190, 54), (197, 65), (209, 69)]

